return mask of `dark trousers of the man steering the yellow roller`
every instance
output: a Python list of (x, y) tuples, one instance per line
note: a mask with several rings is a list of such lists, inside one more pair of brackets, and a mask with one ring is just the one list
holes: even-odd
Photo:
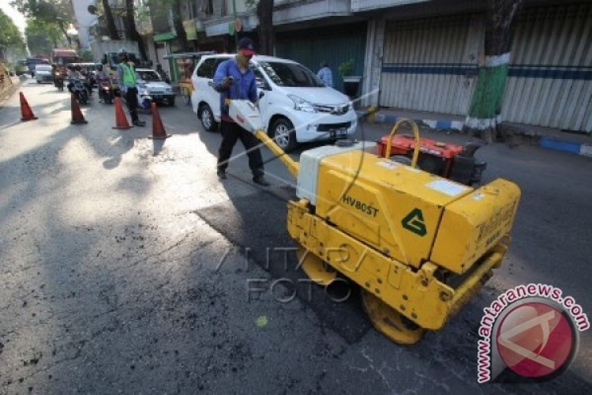
[(222, 143), (218, 150), (218, 169), (226, 171), (234, 144), (236, 144), (236, 140), (240, 139), (249, 156), (249, 167), (253, 176), (263, 175), (263, 158), (259, 148), (255, 148), (259, 145), (259, 140), (253, 133), (244, 130), (237, 123), (228, 121), (221, 121), (220, 133), (222, 134)]

